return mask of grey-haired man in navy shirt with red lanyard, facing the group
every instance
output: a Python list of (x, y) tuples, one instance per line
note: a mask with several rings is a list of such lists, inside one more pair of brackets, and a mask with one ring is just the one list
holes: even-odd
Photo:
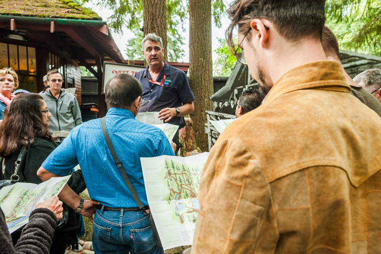
[(184, 116), (194, 111), (194, 96), (187, 75), (163, 61), (164, 49), (160, 37), (147, 34), (141, 47), (148, 66), (135, 75), (143, 85), (144, 103), (139, 112), (158, 111), (160, 120), (165, 123), (178, 125), (179, 129), (185, 127)]

